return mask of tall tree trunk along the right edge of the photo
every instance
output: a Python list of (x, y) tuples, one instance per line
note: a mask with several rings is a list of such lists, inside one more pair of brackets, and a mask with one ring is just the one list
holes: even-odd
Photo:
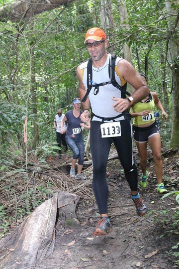
[[(179, 148), (179, 35), (177, 35), (177, 27), (179, 27), (179, 13), (177, 8), (178, 0), (166, 0), (166, 9), (170, 16), (168, 19), (169, 28), (169, 62), (172, 68), (172, 136), (170, 147)], [(173, 7), (176, 8), (174, 9)]]

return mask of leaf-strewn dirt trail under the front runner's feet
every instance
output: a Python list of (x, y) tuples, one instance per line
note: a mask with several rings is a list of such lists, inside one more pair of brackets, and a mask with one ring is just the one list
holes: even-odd
[[(109, 217), (111, 231), (92, 236), (98, 221), (97, 207), (82, 202), (77, 209), (79, 224), (58, 227), (55, 249), (35, 269), (169, 269), (174, 265), (166, 251), (178, 243), (177, 236), (165, 236), (165, 225), (153, 223), (157, 213), (138, 216), (130, 198), (128, 183), (117, 160), (108, 164)], [(139, 190), (149, 210), (175, 210), (174, 197), (161, 200), (149, 176), (147, 191)], [(147, 258), (146, 255), (151, 256)]]

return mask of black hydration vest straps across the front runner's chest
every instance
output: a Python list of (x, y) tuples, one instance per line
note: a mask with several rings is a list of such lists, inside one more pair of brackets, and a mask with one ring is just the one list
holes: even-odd
[(94, 87), (94, 95), (97, 95), (99, 92), (99, 87), (100, 86), (104, 86), (107, 84), (112, 84), (114, 87), (116, 87), (117, 89), (119, 89), (121, 91), (121, 93), (124, 94), (124, 97), (126, 97), (126, 95), (130, 96), (131, 94), (128, 93), (126, 91), (127, 88), (127, 82), (123, 85), (120, 86), (117, 81), (115, 80), (115, 62), (116, 62), (116, 55), (110, 55), (109, 56), (109, 81), (107, 82), (101, 82), (101, 83), (95, 83), (93, 84), (92, 81), (92, 59), (89, 58), (88, 61), (88, 65), (87, 65), (87, 93), (84, 96), (84, 98), (82, 99), (82, 102), (85, 102), (87, 100), (87, 97), (89, 95), (90, 90)]

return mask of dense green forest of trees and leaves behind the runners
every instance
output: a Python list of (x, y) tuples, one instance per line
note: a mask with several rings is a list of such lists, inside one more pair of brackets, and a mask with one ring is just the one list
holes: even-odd
[[(179, 147), (179, 3), (164, 0), (0, 1), (0, 139), (55, 141), (56, 111), (78, 96), (77, 66), (88, 59), (84, 36), (101, 27), (108, 52), (148, 77), (170, 115), (169, 147)], [(171, 136), (170, 136), (171, 134)]]

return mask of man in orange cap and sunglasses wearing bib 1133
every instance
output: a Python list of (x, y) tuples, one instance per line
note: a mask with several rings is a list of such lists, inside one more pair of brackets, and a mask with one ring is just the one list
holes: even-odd
[[(84, 101), (81, 119), (83, 122), (89, 121), (91, 107), (92, 186), (101, 216), (93, 235), (105, 235), (110, 228), (105, 174), (112, 141), (124, 168), (137, 214), (144, 215), (147, 212), (147, 207), (137, 190), (137, 168), (133, 160), (131, 117), (128, 109), (133, 103), (144, 99), (149, 94), (149, 89), (134, 67), (119, 57), (115, 60), (115, 80), (119, 87), (116, 88), (112, 84), (112, 79), (109, 77), (111, 55), (106, 52), (108, 41), (103, 30), (97, 27), (89, 29), (84, 43), (91, 60), (80, 64), (77, 68), (79, 93), (81, 100)], [(91, 70), (88, 67), (89, 62), (92, 63)], [(125, 94), (127, 82), (135, 89), (128, 98)]]

